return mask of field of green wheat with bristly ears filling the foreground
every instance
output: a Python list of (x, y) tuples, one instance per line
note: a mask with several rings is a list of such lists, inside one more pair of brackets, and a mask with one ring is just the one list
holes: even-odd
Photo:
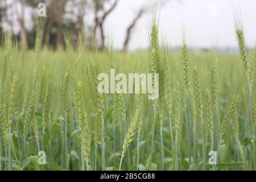
[[(0, 50), (0, 170), (254, 170), (255, 54), (171, 51), (150, 26), (147, 51)], [(99, 73), (158, 73), (159, 98), (100, 94)], [(154, 79), (154, 78), (153, 78)], [(40, 152), (46, 163), (40, 164)], [(216, 163), (210, 164), (211, 152)]]

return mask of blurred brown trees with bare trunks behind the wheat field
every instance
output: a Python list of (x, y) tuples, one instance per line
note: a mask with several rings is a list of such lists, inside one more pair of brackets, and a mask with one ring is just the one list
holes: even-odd
[[(159, 0), (159, 5), (172, 0)], [(179, 0), (173, 0), (179, 1)], [(138, 20), (149, 11), (152, 1), (145, 1), (134, 11), (127, 22), (125, 39), (121, 49), (127, 51), (134, 27)], [(77, 43), (79, 34), (84, 34), (88, 47), (105, 49), (107, 37), (104, 28), (106, 19), (117, 8), (118, 0), (1, 0), (0, 1), (0, 45), (3, 46), (3, 33), (10, 31), (23, 49), (35, 46), (36, 20), (39, 3), (46, 4), (43, 45), (44, 47), (65, 48), (64, 35)]]

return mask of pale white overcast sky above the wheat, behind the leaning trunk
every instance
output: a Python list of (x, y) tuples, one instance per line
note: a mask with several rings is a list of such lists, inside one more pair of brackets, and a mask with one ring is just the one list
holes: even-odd
[[(106, 32), (113, 37), (116, 48), (122, 48), (125, 30), (137, 10), (151, 5), (151, 0), (119, 0), (105, 23)], [(255, 0), (181, 0), (164, 5), (159, 15), (159, 37), (165, 37), (172, 47), (181, 43), (183, 28), (193, 48), (218, 46), (236, 47), (233, 12), (241, 7), (247, 46), (256, 42)], [(134, 29), (129, 49), (147, 48), (150, 14), (144, 15)]]

